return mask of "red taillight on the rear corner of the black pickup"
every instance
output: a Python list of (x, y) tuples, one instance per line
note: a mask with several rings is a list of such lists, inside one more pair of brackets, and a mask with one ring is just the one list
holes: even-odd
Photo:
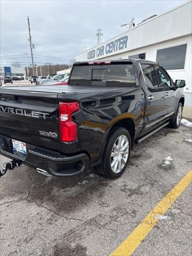
[(72, 114), (79, 110), (78, 102), (59, 102), (60, 139), (71, 142), (77, 139), (77, 125), (72, 121)]

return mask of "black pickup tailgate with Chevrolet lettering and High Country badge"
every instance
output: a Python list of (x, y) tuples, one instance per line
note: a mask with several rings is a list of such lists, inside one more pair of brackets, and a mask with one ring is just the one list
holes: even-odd
[(0, 92), (2, 135), (60, 150), (57, 93), (26, 93), (17, 90)]

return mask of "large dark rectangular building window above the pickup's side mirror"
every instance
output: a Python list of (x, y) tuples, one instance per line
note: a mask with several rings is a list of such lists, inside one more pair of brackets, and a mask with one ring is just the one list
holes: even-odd
[(187, 44), (157, 50), (157, 61), (167, 70), (184, 69)]

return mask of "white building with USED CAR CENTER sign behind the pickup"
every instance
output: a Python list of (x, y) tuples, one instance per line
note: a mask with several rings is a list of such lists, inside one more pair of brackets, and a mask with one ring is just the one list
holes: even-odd
[(114, 58), (158, 61), (173, 81), (186, 80), (185, 105), (192, 107), (191, 12), (192, 2), (188, 1), (77, 55), (75, 61)]

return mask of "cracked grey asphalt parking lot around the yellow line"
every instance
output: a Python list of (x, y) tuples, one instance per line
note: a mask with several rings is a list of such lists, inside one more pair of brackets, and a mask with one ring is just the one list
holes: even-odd
[[(190, 139), (190, 127), (165, 127), (135, 145), (117, 180), (94, 173), (50, 178), (27, 166), (7, 172), (0, 180), (0, 254), (110, 255), (189, 172)], [(0, 156), (1, 167), (5, 161)], [(190, 184), (133, 255), (191, 255), (191, 209)]]

